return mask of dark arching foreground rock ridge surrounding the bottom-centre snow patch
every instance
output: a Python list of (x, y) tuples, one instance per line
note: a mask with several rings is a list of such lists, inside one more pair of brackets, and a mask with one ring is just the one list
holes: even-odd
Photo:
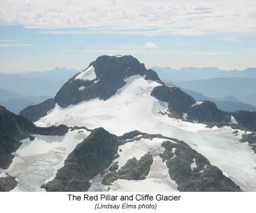
[(169, 168), (169, 175), (176, 181), (179, 191), (241, 191), (218, 167), (211, 165), (204, 156), (185, 142), (139, 131), (118, 137), (103, 128), (93, 130), (90, 136), (69, 154), (56, 178), (42, 187), (46, 191), (88, 191), (91, 187), (90, 180), (99, 174), (102, 177), (101, 183), (106, 186), (112, 185), (117, 179), (144, 180), (153, 163), (151, 153), (140, 159), (128, 159), (122, 168), (118, 168), (118, 162), (114, 161), (118, 157), (118, 146), (141, 138), (166, 140), (162, 144), (165, 151), (160, 157)]

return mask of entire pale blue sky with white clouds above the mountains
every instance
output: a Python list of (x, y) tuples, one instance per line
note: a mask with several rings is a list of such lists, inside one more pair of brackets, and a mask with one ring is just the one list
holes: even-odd
[(0, 71), (83, 69), (103, 54), (147, 67), (256, 67), (255, 1), (132, 1), (0, 1)]

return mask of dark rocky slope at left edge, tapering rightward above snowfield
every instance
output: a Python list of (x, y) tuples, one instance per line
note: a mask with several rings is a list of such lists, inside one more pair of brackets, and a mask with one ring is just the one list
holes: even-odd
[[(48, 136), (63, 136), (67, 133), (67, 126), (51, 126), (48, 128), (36, 127), (32, 122), (22, 116), (9, 112), (0, 106), (0, 168), (7, 169), (13, 159), (12, 152), (21, 145), (21, 140), (31, 134)], [(31, 138), (32, 139), (32, 138)]]

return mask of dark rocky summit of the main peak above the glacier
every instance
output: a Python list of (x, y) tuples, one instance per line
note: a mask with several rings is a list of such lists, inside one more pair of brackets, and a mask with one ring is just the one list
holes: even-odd
[(132, 75), (145, 75), (145, 79), (160, 82), (155, 71), (147, 70), (144, 64), (140, 64), (132, 56), (101, 56), (91, 62), (89, 67), (94, 67), (96, 78), (76, 79), (79, 75), (77, 74), (69, 79), (54, 98), (58, 105), (66, 107), (95, 98), (107, 100), (123, 87), (126, 84), (124, 80)]

